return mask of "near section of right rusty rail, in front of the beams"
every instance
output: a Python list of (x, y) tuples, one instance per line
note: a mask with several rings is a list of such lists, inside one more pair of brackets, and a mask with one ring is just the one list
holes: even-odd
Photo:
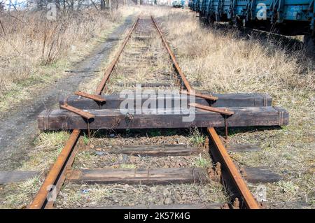
[(228, 154), (228, 151), (225, 149), (223, 143), (221, 142), (221, 139), (218, 137), (216, 130), (213, 127), (211, 127), (208, 128), (207, 131), (210, 134), (212, 141), (216, 145), (216, 149), (218, 150), (218, 153), (220, 154), (223, 160), (223, 164), (226, 166), (229, 174), (232, 176), (232, 179), (235, 182), (235, 185), (237, 186), (239, 193), (241, 194), (241, 196), (243, 196), (246, 208), (260, 209), (258, 203), (255, 201), (255, 198), (253, 197), (253, 194), (251, 194), (251, 191), (248, 189), (245, 181), (241, 177), (241, 173), (239, 173), (239, 171), (237, 170), (237, 167), (233, 163), (230, 155)]

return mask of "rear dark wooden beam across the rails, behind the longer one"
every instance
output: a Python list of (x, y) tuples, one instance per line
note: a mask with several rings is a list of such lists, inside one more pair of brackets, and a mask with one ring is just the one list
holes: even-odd
[[(207, 92), (204, 92), (207, 93)], [(209, 93), (209, 92), (208, 92)], [(189, 96), (187, 103), (200, 103), (204, 106), (209, 106), (209, 103), (213, 107), (263, 107), (263, 106), (272, 106), (272, 98), (267, 94), (212, 94), (213, 96), (218, 97), (218, 100), (211, 101), (202, 99), (200, 97), (196, 97), (195, 101), (190, 101)], [(103, 95), (104, 99), (106, 99), (106, 102), (99, 103), (97, 101), (93, 101), (91, 99), (85, 99), (80, 96), (70, 96), (66, 103), (69, 104), (69, 106), (73, 106), (80, 109), (118, 109), (120, 108), (120, 104), (125, 100), (125, 98), (120, 98), (119, 95)], [(185, 96), (186, 97), (186, 96)], [(158, 108), (159, 104), (158, 101), (164, 101), (162, 102), (162, 105), (165, 106), (166, 103), (170, 103), (172, 107), (175, 107), (176, 103), (175, 101), (181, 101), (183, 99), (182, 96), (172, 96), (172, 95), (162, 95), (162, 96), (139, 96), (135, 95), (132, 97), (132, 99), (128, 99), (130, 103), (127, 105), (127, 108), (133, 109), (135, 108), (135, 101), (136, 99), (139, 99), (141, 101), (141, 106), (144, 105), (145, 101), (147, 101), (149, 98), (156, 98), (157, 102), (155, 103), (155, 107)], [(59, 104), (64, 104), (64, 99), (59, 100)], [(181, 103), (179, 103), (181, 104)], [(149, 106), (148, 108), (151, 108)]]

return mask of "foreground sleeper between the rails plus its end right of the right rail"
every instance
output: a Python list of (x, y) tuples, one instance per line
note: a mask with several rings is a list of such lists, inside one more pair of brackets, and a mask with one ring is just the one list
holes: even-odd
[[(252, 183), (282, 180), (280, 175), (261, 167), (243, 167), (241, 176)], [(205, 182), (209, 177), (206, 168), (104, 168), (71, 170), (66, 180), (90, 184), (167, 185)]]

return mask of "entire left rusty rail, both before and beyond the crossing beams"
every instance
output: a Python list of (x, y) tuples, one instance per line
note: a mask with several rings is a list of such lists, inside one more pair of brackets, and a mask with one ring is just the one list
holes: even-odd
[[(123, 42), (123, 45), (120, 46), (115, 58), (113, 59), (113, 62), (111, 62), (111, 66), (109, 66), (108, 69), (106, 69), (104, 73), (104, 78), (97, 86), (96, 94), (101, 95), (103, 92), (103, 89), (106, 85), (106, 83), (109, 80), (109, 76), (113, 72), (113, 68), (116, 66), (118, 59), (123, 52), (123, 49), (125, 48), (125, 45), (130, 39), (130, 36), (132, 35), (132, 32), (134, 31), (134, 28), (137, 26), (139, 21), (139, 16), (136, 19), (136, 22), (134, 22), (132, 29), (127, 34), (127, 37), (125, 38), (125, 41)], [(69, 137), (69, 140), (66, 141), (66, 145), (62, 149), (62, 152), (60, 152), (59, 156), (57, 157), (57, 160), (55, 161), (54, 166), (50, 169), (47, 177), (45, 178), (43, 185), (41, 185), (41, 188), (38, 190), (34, 200), (31, 202), (31, 204), (27, 207), (28, 209), (51, 209), (54, 207), (55, 201), (52, 199), (48, 201), (48, 196), (51, 193), (52, 196), (55, 196), (57, 198), (57, 194), (59, 194), (62, 185), (64, 184), (64, 181), (66, 180), (66, 171), (72, 166), (74, 158), (76, 157), (76, 142), (78, 141), (78, 138), (80, 136), (80, 129), (74, 129), (71, 133), (71, 136)]]

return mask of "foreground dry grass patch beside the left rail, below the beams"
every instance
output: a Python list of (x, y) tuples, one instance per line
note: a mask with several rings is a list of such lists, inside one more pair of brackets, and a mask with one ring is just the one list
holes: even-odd
[(34, 149), (20, 171), (40, 171), (40, 175), (25, 182), (0, 186), (0, 208), (25, 208), (43, 183), (45, 173), (54, 164), (70, 134), (66, 131), (42, 133), (34, 140)]

